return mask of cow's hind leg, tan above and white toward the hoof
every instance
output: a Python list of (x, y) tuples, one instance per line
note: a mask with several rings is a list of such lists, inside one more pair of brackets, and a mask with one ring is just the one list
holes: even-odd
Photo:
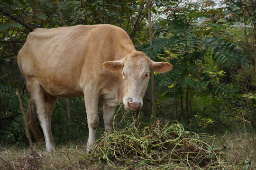
[(54, 141), (51, 131), (51, 115), (55, 107), (56, 97), (50, 95), (50, 100), (48, 100), (45, 90), (35, 78), (28, 80), (27, 86), (37, 108), (37, 117), (40, 121), (46, 140), (46, 150), (51, 152), (54, 150)]

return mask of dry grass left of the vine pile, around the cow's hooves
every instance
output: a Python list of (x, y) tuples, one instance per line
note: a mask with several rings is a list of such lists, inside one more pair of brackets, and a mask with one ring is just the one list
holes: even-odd
[[(86, 144), (84, 144), (86, 145)], [(67, 144), (56, 147), (52, 153), (46, 152), (45, 144), (39, 142), (34, 144), (37, 163), (40, 170), (111, 170), (108, 165), (102, 163), (88, 164), (81, 161), (81, 156), (73, 152), (76, 150), (75, 144)], [(81, 153), (86, 149), (78, 148)], [(4, 159), (14, 170), (35, 170), (33, 157), (29, 153), (29, 148), (20, 146), (1, 146), (0, 158)], [(0, 170), (11, 170), (9, 166), (0, 160)]]

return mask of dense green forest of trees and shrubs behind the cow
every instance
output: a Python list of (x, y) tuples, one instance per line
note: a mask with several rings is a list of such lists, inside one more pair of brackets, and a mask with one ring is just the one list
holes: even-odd
[[(154, 82), (149, 83), (142, 123), (170, 119), (196, 133), (241, 132), (248, 152), (250, 145), (255, 148), (256, 130), (255, 9), (253, 0), (1, 0), (0, 144), (28, 145), (15, 95), (18, 89), (27, 108), (30, 95), (16, 61), (27, 35), (37, 27), (112, 24), (128, 33), (137, 51), (173, 65), (170, 72), (155, 72)], [(100, 102), (101, 134), (102, 114)], [(83, 97), (58, 99), (52, 131), (56, 145), (85, 143), (88, 125)]]

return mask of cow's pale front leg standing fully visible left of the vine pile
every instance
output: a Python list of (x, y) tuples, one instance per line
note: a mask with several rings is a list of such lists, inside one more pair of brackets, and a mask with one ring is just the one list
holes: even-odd
[(99, 116), (98, 116), (99, 97), (98, 95), (85, 94), (84, 102), (85, 102), (87, 122), (89, 127), (89, 137), (87, 141), (86, 151), (89, 151), (91, 149), (91, 145), (95, 142), (95, 133), (99, 125)]

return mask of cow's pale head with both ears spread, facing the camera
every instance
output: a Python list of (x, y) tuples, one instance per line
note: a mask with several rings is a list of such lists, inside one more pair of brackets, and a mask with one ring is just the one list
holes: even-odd
[(149, 70), (165, 73), (173, 66), (167, 62), (154, 62), (143, 52), (132, 51), (124, 59), (104, 62), (103, 68), (112, 72), (121, 69), (124, 107), (126, 110), (138, 110), (143, 105), (142, 99), (149, 81)]

